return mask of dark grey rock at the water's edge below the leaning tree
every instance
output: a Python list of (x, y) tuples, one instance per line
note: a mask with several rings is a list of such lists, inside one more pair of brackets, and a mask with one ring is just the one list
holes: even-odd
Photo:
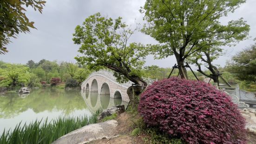
[(101, 112), (98, 115), (97, 119), (101, 120), (107, 116), (111, 116), (114, 113), (120, 114), (122, 112), (125, 112), (125, 105), (116, 105), (116, 106), (110, 107), (110, 108), (106, 109), (105, 111)]

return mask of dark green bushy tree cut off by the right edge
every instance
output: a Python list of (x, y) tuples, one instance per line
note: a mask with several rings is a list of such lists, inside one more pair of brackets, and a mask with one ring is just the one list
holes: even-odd
[(256, 82), (256, 44), (237, 53), (227, 63), (227, 70), (239, 79)]

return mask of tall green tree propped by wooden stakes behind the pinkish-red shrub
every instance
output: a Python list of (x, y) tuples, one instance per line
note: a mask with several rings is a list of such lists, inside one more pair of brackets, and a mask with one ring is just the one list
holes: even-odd
[[(153, 49), (153, 53), (159, 59), (174, 54), (181, 78), (187, 78), (185, 59), (217, 43), (222, 46), (230, 43), (232, 25), (223, 25), (219, 19), (234, 12), (244, 2), (245, 0), (146, 0), (140, 12), (144, 13), (144, 20), (148, 23), (142, 31), (163, 44)], [(243, 20), (237, 21), (241, 23)], [(204, 41), (209, 38), (211, 41)]]

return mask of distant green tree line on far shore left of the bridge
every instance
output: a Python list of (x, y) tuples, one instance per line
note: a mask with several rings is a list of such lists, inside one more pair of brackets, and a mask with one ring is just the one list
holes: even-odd
[(58, 63), (41, 59), (38, 63), (29, 60), (26, 65), (21, 65), (0, 61), (0, 87), (38, 87), (41, 84), (58, 85), (67, 81), (79, 86), (90, 72), (86, 65), (72, 62)]

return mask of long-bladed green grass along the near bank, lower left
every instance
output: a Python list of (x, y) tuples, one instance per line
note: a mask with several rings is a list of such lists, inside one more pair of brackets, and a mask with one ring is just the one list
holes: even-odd
[(13, 131), (4, 131), (0, 144), (51, 144), (59, 137), (79, 129), (87, 124), (97, 123), (98, 110), (91, 117), (58, 118), (51, 122), (36, 120), (23, 126), (18, 124)]

